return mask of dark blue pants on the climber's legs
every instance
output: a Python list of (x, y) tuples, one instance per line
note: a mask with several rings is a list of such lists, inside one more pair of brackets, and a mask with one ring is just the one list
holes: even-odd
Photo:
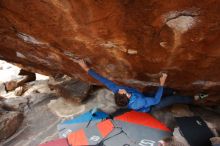
[[(177, 95), (177, 91), (171, 88), (164, 88), (160, 103), (152, 106), (152, 110), (162, 109), (173, 104), (192, 104), (193, 97)], [(164, 96), (165, 95), (165, 96)], [(145, 96), (154, 97), (154, 93), (145, 94)]]

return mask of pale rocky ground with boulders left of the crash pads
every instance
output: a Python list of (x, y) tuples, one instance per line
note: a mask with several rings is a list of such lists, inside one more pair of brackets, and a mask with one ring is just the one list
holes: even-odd
[(38, 145), (56, 138), (56, 126), (64, 119), (94, 107), (116, 110), (112, 93), (106, 89), (97, 90), (67, 76), (37, 75), (35, 81), (18, 85), (23, 78), (17, 75), (20, 69), (4, 61), (0, 65), (0, 145)]

